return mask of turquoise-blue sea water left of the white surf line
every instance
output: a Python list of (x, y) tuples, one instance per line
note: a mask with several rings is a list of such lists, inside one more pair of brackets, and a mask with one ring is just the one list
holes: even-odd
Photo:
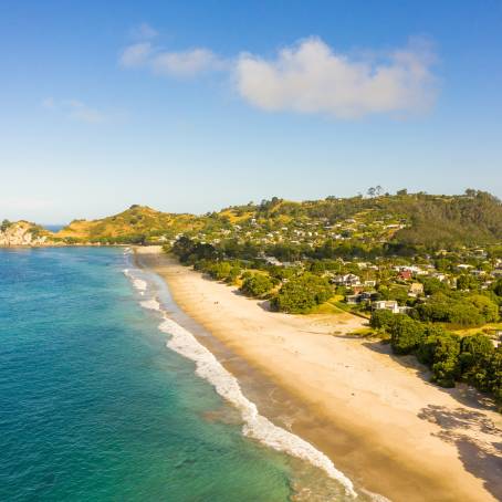
[(0, 500), (289, 500), (287, 459), (166, 347), (124, 261), (0, 250)]

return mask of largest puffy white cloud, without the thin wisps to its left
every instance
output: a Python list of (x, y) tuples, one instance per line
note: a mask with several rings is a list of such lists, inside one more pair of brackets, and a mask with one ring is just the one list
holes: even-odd
[(436, 97), (432, 62), (419, 41), (377, 61), (351, 59), (311, 38), (283, 49), (274, 61), (241, 54), (236, 81), (245, 101), (266, 111), (354, 118), (428, 109)]

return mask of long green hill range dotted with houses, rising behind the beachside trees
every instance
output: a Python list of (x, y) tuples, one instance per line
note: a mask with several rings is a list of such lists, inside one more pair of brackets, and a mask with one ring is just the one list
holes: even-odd
[(46, 242), (63, 244), (161, 243), (187, 234), (207, 242), (233, 239), (312, 248), (336, 241), (336, 245), (412, 251), (502, 242), (502, 203), (477, 190), (435, 196), (406, 190), (380, 195), (370, 189), (366, 197), (303, 202), (274, 197), (203, 216), (135, 205), (107, 218), (74, 220), (56, 233), (44, 234)]

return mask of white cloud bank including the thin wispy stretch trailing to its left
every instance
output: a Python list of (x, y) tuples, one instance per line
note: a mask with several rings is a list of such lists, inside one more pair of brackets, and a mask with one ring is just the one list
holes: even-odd
[(119, 57), (125, 69), (145, 67), (164, 76), (226, 71), (237, 93), (258, 108), (344, 119), (427, 112), (437, 96), (435, 61), (430, 44), (420, 39), (404, 49), (356, 57), (315, 36), (282, 49), (274, 59), (241, 53), (229, 61), (209, 49), (168, 52), (150, 42), (129, 45)]

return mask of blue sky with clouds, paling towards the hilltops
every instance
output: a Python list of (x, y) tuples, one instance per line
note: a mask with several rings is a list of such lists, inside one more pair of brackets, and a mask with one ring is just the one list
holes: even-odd
[(0, 219), (502, 197), (502, 2), (0, 1)]

